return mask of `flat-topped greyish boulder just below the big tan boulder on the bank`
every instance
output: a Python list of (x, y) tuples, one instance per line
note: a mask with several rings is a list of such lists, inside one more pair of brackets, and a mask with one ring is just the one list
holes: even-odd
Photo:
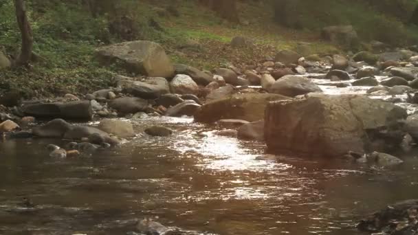
[(170, 85), (165, 78), (145, 78), (137, 81), (125, 76), (115, 78), (119, 87), (124, 92), (143, 99), (156, 99), (159, 96), (170, 93)]

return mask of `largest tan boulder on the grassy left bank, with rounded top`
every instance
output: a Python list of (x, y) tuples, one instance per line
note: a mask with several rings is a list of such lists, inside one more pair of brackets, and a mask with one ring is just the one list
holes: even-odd
[(125, 69), (136, 74), (162, 78), (174, 76), (170, 58), (161, 45), (151, 41), (131, 41), (100, 47), (96, 49), (96, 56), (105, 65), (121, 63)]

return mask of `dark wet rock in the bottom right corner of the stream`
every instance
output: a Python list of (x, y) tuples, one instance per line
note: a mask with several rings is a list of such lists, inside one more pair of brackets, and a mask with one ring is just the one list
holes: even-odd
[(364, 232), (413, 235), (418, 230), (417, 210), (418, 200), (401, 201), (369, 215), (357, 227)]

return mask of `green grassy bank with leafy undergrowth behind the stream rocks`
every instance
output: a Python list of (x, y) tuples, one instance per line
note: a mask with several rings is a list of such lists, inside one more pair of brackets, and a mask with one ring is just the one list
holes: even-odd
[[(0, 71), (0, 93), (18, 90), (26, 96), (51, 96), (108, 87), (115, 74), (125, 72), (99, 65), (94, 49), (120, 41), (156, 41), (175, 63), (213, 69), (227, 63), (255, 64), (274, 56), (278, 49), (295, 49), (305, 55), (339, 52), (338, 46), (320, 39), (319, 30), (327, 25), (352, 24), (366, 42), (375, 39), (401, 45), (418, 35), (415, 27), (405, 26), (394, 14), (360, 0), (349, 1), (349, 7), (344, 0), (300, 0), (303, 6), (296, 16), (303, 30), (294, 30), (274, 21), (274, 1), (279, 0), (239, 1), (241, 24), (221, 19), (195, 0), (177, 4), (169, 0), (115, 1), (107, 6), (111, 10), (102, 7), (95, 15), (82, 1), (27, 1), (36, 63)], [(233, 49), (228, 43), (234, 36), (252, 38), (256, 46)], [(17, 56), (19, 46), (13, 1), (2, 0), (0, 49)]]

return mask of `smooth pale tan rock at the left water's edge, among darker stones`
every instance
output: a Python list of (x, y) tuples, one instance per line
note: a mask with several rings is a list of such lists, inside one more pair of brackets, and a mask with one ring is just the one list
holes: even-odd
[(105, 119), (100, 122), (98, 128), (106, 133), (118, 137), (127, 138), (135, 136), (131, 122), (118, 119)]

